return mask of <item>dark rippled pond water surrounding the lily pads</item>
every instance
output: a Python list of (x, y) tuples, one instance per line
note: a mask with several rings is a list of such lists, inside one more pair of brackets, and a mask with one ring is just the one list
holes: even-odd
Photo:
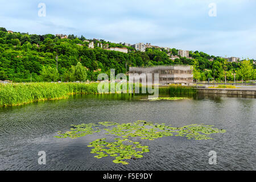
[[(121, 94), (73, 96), (67, 100), (0, 108), (0, 170), (255, 170), (256, 99), (199, 95), (192, 100), (143, 101)], [(53, 138), (71, 125), (145, 120), (174, 127), (204, 123), (225, 129), (213, 140), (163, 137), (133, 139), (149, 146), (143, 158), (114, 164), (113, 157), (93, 158), (87, 147), (103, 133)], [(217, 152), (210, 165), (209, 151)], [(46, 165), (38, 152), (46, 151)]]

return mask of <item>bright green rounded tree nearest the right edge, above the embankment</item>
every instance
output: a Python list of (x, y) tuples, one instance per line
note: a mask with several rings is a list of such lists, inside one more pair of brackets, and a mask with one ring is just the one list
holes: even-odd
[(253, 65), (251, 64), (250, 60), (242, 61), (241, 67), (237, 70), (237, 75), (242, 80), (247, 81), (251, 80), (254, 77), (254, 70)]

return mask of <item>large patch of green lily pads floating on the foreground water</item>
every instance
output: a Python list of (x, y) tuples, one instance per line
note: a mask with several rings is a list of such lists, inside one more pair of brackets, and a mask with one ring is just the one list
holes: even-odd
[[(183, 127), (166, 126), (165, 123), (152, 123), (146, 121), (137, 121), (134, 123), (114, 123), (99, 122), (102, 126), (114, 126), (100, 130), (99, 125), (89, 123), (81, 125), (72, 125), (71, 131), (64, 134), (58, 132), (56, 138), (77, 138), (89, 134), (95, 134), (100, 131), (106, 131), (106, 135), (115, 135), (114, 141), (106, 141), (106, 138), (96, 139), (88, 145), (92, 148), (91, 153), (96, 154), (94, 158), (101, 159), (107, 156), (114, 157), (113, 163), (129, 164), (127, 159), (142, 158), (144, 152), (150, 152), (148, 146), (142, 146), (136, 142), (137, 138), (143, 140), (155, 140), (162, 137), (176, 136), (186, 137), (187, 139), (207, 140), (210, 134), (225, 133), (226, 130), (214, 128), (213, 125), (187, 125)], [(133, 140), (134, 139), (134, 140)]]

